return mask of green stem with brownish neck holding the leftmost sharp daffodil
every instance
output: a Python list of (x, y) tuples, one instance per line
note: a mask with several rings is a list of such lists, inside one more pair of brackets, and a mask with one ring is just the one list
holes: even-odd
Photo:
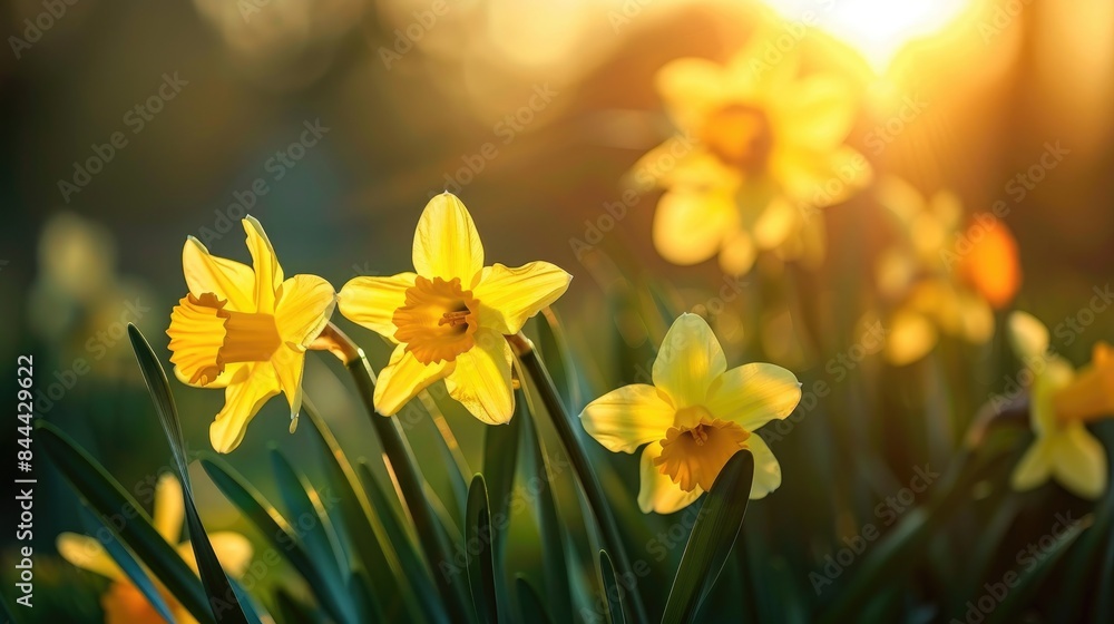
[[(352, 373), (355, 381), (360, 399), (363, 400), (371, 417), (371, 425), (375, 428), (379, 441), (387, 456), (384, 461), (388, 468), (394, 474), (399, 481), (399, 491), (402, 504), (410, 513), (418, 540), (421, 543), (422, 553), (426, 555), (426, 563), (429, 573), (437, 584), (437, 589), (444, 601), (453, 622), (467, 622), (471, 620), (471, 608), (468, 607), (465, 595), (458, 583), (453, 587), (452, 583), (442, 574), (443, 566), (453, 566), (452, 556), (448, 545), (441, 538), (441, 530), (437, 526), (433, 510), (430, 508), (424, 495), (424, 478), (418, 471), (418, 460), (414, 457), (410, 442), (407, 441), (399, 426), (397, 418), (387, 418), (375, 411), (375, 373), (368, 362), (363, 350), (355, 345), (336, 325), (329, 323), (319, 339), (320, 343), (315, 348), (328, 349), (344, 362), (344, 367)], [(458, 575), (461, 579), (465, 576)]]

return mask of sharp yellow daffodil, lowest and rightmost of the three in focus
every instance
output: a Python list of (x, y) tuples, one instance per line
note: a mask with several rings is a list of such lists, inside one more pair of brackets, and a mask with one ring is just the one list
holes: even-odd
[(751, 498), (781, 485), (781, 466), (755, 429), (788, 417), (801, 400), (793, 373), (773, 364), (727, 370), (704, 319), (682, 314), (654, 361), (654, 384), (619, 388), (588, 403), (585, 430), (610, 451), (642, 451), (638, 506), (672, 514), (712, 487), (732, 455), (754, 455)]

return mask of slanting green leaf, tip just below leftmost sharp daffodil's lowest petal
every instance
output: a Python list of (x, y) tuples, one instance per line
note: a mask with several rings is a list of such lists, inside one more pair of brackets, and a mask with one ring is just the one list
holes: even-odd
[(286, 518), (244, 477), (212, 454), (206, 454), (202, 459), (202, 468), (271, 546), (305, 578), (321, 606), (338, 622), (352, 621), (355, 614), (346, 588), (316, 565), (306, 550), (305, 543)]

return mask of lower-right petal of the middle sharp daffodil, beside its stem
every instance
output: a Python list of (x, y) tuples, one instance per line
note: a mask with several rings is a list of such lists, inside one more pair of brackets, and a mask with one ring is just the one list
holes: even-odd
[(515, 416), (510, 387), (510, 345), (502, 334), (476, 332), (476, 344), (457, 355), (456, 369), (444, 378), (449, 396), (488, 425), (502, 425)]

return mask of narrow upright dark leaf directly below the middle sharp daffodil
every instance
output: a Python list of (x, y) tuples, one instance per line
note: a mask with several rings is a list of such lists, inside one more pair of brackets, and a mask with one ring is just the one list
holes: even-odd
[[(472, 608), (479, 622), (498, 622), (499, 605), (496, 601), (495, 557), (491, 542), (491, 508), (488, 505), (483, 475), (472, 477), (468, 488), (468, 507), (465, 511), (465, 552), (468, 554), (468, 587)], [(476, 545), (476, 552), (473, 546)]]

